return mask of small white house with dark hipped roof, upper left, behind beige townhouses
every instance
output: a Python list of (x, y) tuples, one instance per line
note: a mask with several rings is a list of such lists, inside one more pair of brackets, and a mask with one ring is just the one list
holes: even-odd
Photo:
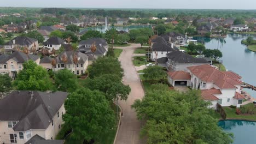
[(61, 47), (61, 44), (65, 43), (66, 41), (59, 38), (59, 37), (51, 37), (48, 40), (44, 42), (44, 47), (53, 50), (59, 50)]

